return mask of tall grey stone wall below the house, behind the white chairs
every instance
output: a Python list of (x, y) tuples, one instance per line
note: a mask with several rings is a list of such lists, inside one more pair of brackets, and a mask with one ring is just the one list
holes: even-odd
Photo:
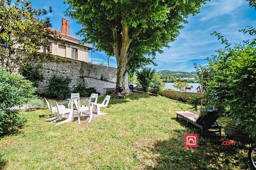
[(113, 88), (116, 85), (117, 69), (113, 67), (74, 59), (68, 59), (65, 62), (45, 62), (42, 66), (44, 81), (38, 85), (38, 93), (41, 94), (47, 91), (48, 80), (53, 74), (70, 77), (72, 79), (70, 87), (82, 80), (88, 87), (95, 87), (101, 94), (103, 94), (103, 88)]

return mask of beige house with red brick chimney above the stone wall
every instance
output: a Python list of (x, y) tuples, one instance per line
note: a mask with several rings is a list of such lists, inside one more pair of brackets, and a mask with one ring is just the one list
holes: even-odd
[(48, 40), (50, 52), (47, 49), (41, 49), (39, 52), (51, 53), (52, 55), (72, 58), (80, 61), (88, 62), (88, 51), (93, 47), (79, 43), (79, 39), (69, 35), (70, 21), (62, 18), (61, 31), (57, 31), (57, 35), (61, 37), (60, 41)]

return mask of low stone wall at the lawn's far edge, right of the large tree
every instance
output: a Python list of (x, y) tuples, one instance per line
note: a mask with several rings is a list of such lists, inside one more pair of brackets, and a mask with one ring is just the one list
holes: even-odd
[[(134, 87), (136, 90), (142, 91), (141, 87)], [(153, 89), (149, 88), (149, 92), (153, 92)], [(201, 93), (195, 92), (186, 92), (186, 91), (176, 91), (176, 90), (163, 90), (160, 93), (161, 96), (168, 97), (170, 99), (179, 100), (183, 102), (187, 102), (190, 97), (195, 97), (197, 95), (201, 95)]]

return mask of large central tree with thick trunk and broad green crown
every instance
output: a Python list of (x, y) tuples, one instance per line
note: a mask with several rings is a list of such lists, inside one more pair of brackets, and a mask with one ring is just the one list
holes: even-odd
[[(117, 60), (117, 84), (128, 88), (128, 70), (152, 62), (174, 41), (186, 18), (207, 0), (66, 0), (67, 14), (83, 28), (78, 32), (98, 50)], [(145, 57), (150, 56), (150, 57)]]

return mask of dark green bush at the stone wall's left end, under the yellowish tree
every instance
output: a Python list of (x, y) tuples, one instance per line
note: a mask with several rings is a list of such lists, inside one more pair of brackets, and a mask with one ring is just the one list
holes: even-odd
[(21, 66), (20, 73), (29, 81), (34, 83), (35, 86), (38, 86), (38, 82), (43, 81), (42, 75), (42, 65), (37, 64), (33, 66), (31, 63), (26, 63)]

